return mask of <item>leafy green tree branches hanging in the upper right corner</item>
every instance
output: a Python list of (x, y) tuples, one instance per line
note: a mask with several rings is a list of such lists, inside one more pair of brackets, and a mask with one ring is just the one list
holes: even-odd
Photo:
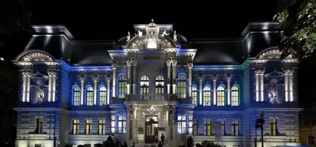
[(282, 57), (295, 53), (300, 60), (316, 49), (316, 0), (278, 0), (274, 20), (283, 30)]

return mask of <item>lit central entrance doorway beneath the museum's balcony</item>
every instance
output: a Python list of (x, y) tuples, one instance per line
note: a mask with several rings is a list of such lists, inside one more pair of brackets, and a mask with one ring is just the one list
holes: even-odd
[(146, 116), (145, 143), (158, 143), (158, 116)]

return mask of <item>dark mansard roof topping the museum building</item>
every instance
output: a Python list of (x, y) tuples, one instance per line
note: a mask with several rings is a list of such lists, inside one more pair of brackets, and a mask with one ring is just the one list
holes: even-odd
[[(154, 24), (153, 22), (150, 24)], [(149, 24), (149, 25), (150, 25)], [(146, 27), (147, 26), (147, 27)], [(154, 25), (152, 25), (154, 26)], [(248, 58), (256, 58), (267, 48), (277, 47), (281, 39), (281, 30), (275, 22), (249, 23), (240, 38), (189, 39), (176, 33), (172, 24), (158, 25), (159, 34), (166, 30), (165, 38), (180, 46), (180, 49), (197, 49), (195, 65), (242, 64)], [(33, 26), (36, 30), (19, 58), (31, 51), (42, 51), (55, 60), (64, 60), (71, 65), (110, 65), (112, 58), (108, 50), (122, 50), (129, 40), (136, 38), (138, 30), (144, 31), (148, 25), (134, 25), (135, 34), (124, 35), (118, 40), (78, 41), (62, 25)], [(153, 30), (150, 28), (150, 30)], [(161, 38), (161, 36), (159, 36)], [(128, 39), (130, 38), (130, 39)], [(18, 59), (18, 58), (17, 58)]]

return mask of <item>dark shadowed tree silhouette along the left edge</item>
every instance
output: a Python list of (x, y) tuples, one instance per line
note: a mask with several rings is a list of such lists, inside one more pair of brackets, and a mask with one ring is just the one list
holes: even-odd
[(0, 20), (0, 51), (4, 59), (0, 60), (0, 147), (14, 147), (16, 112), (13, 108), (17, 107), (18, 100), (18, 69), (10, 62), (10, 56), (21, 51), (12, 47), (22, 44), (17, 38), (33, 32), (31, 12), (22, 0), (0, 0)]

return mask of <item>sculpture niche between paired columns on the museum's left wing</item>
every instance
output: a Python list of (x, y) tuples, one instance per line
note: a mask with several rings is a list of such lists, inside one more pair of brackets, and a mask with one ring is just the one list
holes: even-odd
[(45, 85), (48, 77), (42, 75), (39, 71), (37, 73), (31, 75), (31, 88), (32, 94), (34, 98), (34, 103), (42, 103), (45, 97), (46, 88), (48, 85)]

